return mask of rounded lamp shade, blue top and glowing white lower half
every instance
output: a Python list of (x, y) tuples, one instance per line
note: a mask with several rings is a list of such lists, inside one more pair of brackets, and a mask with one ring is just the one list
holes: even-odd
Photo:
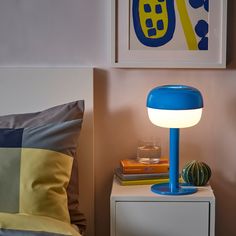
[(186, 128), (201, 119), (203, 99), (199, 90), (186, 85), (164, 85), (147, 97), (150, 121), (164, 128)]

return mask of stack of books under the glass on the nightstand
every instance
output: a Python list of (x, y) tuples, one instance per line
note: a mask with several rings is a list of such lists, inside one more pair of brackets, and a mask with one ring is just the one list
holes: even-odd
[(144, 164), (137, 159), (123, 159), (115, 169), (121, 185), (157, 184), (169, 182), (169, 162), (161, 158), (158, 163)]

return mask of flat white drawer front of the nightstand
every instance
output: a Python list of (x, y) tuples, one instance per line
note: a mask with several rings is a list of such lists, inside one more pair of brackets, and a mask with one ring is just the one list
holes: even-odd
[(116, 202), (115, 236), (209, 236), (209, 202)]

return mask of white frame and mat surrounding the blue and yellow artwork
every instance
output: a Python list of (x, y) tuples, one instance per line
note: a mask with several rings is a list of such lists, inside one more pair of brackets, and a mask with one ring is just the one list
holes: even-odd
[[(209, 47), (207, 50), (131, 49), (131, 30), (134, 28), (131, 20), (133, 1), (111, 0), (110, 54), (112, 66), (226, 68), (227, 0), (209, 0), (209, 12), (207, 13), (209, 14)], [(189, 0), (185, 1), (188, 2)], [(179, 26), (176, 24), (176, 27), (180, 27), (180, 24)]]

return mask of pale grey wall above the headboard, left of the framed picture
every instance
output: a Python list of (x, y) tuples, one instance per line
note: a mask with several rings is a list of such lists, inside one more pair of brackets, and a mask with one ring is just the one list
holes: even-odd
[(106, 0), (0, 0), (0, 66), (100, 65)]

